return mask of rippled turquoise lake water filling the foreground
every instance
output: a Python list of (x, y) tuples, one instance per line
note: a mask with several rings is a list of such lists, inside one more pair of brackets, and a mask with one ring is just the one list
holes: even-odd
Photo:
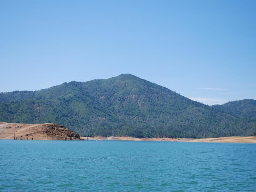
[(256, 144), (0, 140), (0, 191), (255, 191)]

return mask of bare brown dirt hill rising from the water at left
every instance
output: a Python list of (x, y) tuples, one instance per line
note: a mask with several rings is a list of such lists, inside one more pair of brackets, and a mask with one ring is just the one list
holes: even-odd
[(23, 140), (83, 140), (68, 128), (59, 124), (17, 124), (0, 122), (0, 139)]

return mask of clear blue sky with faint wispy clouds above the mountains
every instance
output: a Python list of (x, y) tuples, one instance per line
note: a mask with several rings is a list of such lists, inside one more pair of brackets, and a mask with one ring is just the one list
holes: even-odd
[(256, 1), (0, 1), (0, 92), (130, 73), (208, 105), (256, 99)]

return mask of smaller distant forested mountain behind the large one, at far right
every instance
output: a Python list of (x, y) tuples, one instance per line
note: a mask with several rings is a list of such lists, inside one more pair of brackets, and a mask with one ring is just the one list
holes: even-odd
[(212, 107), (236, 117), (256, 120), (256, 100), (253, 99), (230, 101), (223, 105), (212, 105)]

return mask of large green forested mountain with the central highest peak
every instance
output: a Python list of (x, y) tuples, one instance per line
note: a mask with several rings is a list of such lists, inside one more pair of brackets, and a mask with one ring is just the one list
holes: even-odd
[(0, 121), (57, 123), (81, 136), (248, 136), (256, 121), (189, 100), (130, 74), (0, 93)]

